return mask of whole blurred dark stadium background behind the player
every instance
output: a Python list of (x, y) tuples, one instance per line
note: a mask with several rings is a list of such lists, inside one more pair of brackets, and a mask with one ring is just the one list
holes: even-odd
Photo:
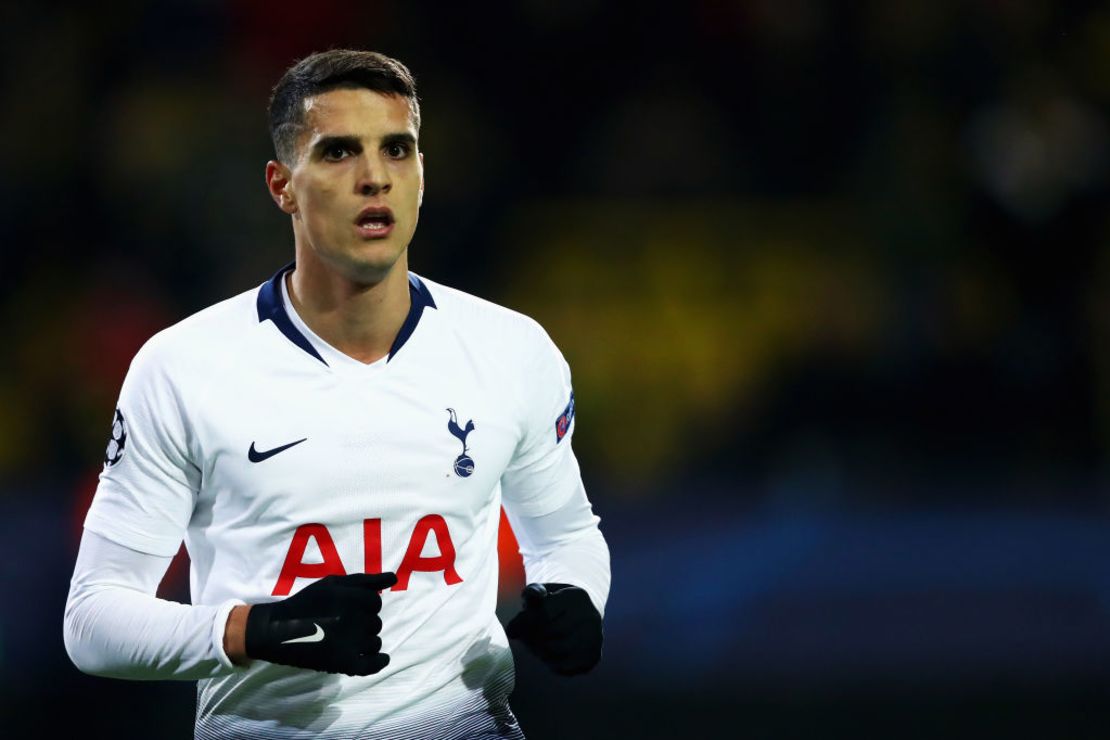
[(1106, 736), (1104, 3), (47, 1), (0, 29), (7, 737), (191, 734), (192, 685), (81, 675), (62, 606), (131, 355), (292, 254), (266, 97), (334, 45), (417, 77), (413, 270), (575, 373), (606, 659), (518, 655), (529, 738)]

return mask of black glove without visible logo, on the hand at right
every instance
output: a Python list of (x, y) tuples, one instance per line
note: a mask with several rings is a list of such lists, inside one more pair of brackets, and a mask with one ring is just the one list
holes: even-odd
[(602, 616), (589, 595), (566, 584), (528, 584), (524, 610), (505, 633), (561, 676), (585, 673), (602, 659)]

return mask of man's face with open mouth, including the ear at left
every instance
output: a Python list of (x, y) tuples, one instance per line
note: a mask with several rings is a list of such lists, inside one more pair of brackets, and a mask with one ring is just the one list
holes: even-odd
[(408, 101), (354, 89), (331, 90), (304, 105), (293, 166), (268, 165), (271, 193), (293, 215), (299, 259), (376, 283), (405, 256), (424, 191)]

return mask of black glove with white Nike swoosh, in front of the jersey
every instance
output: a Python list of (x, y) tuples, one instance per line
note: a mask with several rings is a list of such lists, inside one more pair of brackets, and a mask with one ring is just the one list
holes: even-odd
[(382, 597), (392, 572), (326, 576), (246, 615), (246, 656), (329, 673), (370, 676), (390, 665), (382, 652)]

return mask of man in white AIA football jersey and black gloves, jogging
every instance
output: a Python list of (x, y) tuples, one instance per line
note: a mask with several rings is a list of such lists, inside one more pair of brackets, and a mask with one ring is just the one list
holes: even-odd
[[(408, 70), (336, 50), (274, 89), (295, 262), (155, 335), (120, 394), (65, 607), (90, 673), (195, 679), (199, 738), (521, 738), (494, 616), (556, 672), (601, 657), (608, 549), (569, 371), (529, 318), (418, 277)], [(182, 539), (192, 606), (155, 598)]]

